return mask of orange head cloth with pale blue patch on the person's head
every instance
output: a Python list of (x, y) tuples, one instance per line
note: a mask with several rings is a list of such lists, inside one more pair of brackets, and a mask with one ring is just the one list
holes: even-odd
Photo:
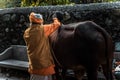
[(36, 14), (34, 12), (30, 13), (29, 20), (31, 23), (38, 23), (41, 24), (43, 23), (43, 17), (41, 14)]

